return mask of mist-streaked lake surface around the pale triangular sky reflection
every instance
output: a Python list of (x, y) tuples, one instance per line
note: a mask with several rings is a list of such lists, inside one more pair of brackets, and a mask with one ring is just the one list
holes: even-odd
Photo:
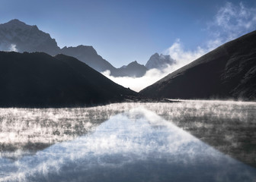
[(38, 151), (74, 140), (111, 116), (138, 107), (155, 112), (215, 149), (256, 167), (255, 102), (183, 100), (92, 108), (0, 108), (0, 118), (6, 118), (0, 120), (0, 151), (4, 152), (2, 156), (19, 158), (27, 150)]

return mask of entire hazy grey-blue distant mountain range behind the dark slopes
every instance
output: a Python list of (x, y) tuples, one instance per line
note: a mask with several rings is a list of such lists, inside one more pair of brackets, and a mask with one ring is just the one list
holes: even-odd
[(146, 66), (136, 61), (120, 68), (114, 67), (98, 55), (92, 46), (78, 45), (77, 47), (59, 48), (55, 39), (49, 33), (44, 33), (37, 26), (24, 24), (14, 19), (0, 24), (0, 50), (16, 52), (46, 52), (49, 55), (64, 54), (85, 62), (96, 71), (110, 71), (114, 77), (142, 77), (152, 68), (163, 69), (166, 64), (173, 64), (169, 55), (152, 55)]

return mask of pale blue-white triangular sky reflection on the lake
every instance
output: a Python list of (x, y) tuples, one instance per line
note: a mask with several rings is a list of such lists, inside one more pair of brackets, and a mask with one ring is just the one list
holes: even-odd
[(0, 158), (0, 163), (0, 181), (252, 181), (256, 177), (254, 168), (143, 108), (111, 117), (85, 137), (18, 161)]

